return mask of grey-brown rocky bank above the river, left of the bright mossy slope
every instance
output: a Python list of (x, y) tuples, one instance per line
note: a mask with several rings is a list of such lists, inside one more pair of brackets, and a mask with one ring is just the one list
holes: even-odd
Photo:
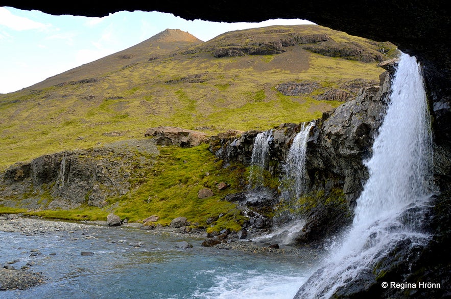
[[(158, 152), (154, 145), (139, 145)], [(129, 192), (129, 179), (140, 175), (136, 159), (153, 163), (120, 147), (64, 151), (18, 163), (0, 177), (0, 204), (27, 209), (102, 207), (107, 198)]]

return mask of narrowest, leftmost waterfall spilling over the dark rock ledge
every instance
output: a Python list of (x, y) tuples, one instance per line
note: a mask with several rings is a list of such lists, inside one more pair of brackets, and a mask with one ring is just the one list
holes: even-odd
[(268, 167), (269, 146), (272, 142), (272, 129), (258, 133), (254, 140), (249, 172), (249, 187), (263, 187), (264, 170)]

